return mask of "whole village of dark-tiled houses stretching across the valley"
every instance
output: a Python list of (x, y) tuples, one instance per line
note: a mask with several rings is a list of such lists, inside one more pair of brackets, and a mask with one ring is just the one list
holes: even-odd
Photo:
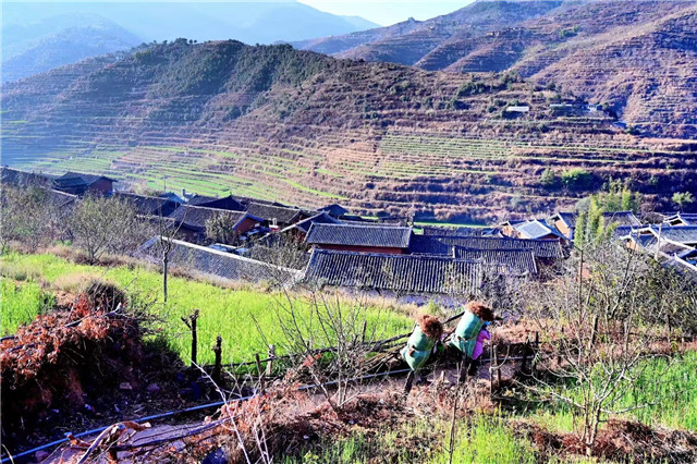
[[(497, 279), (547, 279), (571, 253), (578, 215), (510, 220), (489, 227), (414, 225), (413, 218), (352, 215), (340, 205), (316, 210), (230, 195), (138, 195), (114, 188), (113, 179), (69, 172), (60, 176), (2, 168), (4, 185), (38, 185), (70, 210), (84, 196), (119, 198), (157, 236), (133, 251), (161, 261), (156, 243), (170, 241), (172, 267), (219, 279), (282, 279), (392, 294), (424, 304), (480, 294)], [(697, 215), (603, 212), (612, 239), (697, 281)], [(658, 218), (658, 220), (656, 219)], [(213, 227), (217, 224), (218, 227)], [(279, 257), (279, 249), (289, 253)], [(274, 252), (276, 251), (276, 252)], [(282, 272), (280, 272), (282, 271)]]

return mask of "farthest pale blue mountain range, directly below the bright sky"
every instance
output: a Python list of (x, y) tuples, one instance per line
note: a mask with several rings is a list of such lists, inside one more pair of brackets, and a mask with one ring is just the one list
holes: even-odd
[[(292, 0), (3, 2), (2, 13), (3, 40), (12, 42), (25, 39), (21, 32), (32, 28), (33, 24), (51, 22), (57, 17), (86, 15), (109, 19), (146, 41), (187, 37), (195, 40), (235, 39), (247, 44), (270, 44), (341, 35), (360, 27), (376, 26), (363, 19), (325, 13)], [(56, 33), (62, 28), (53, 29), (52, 33)]]

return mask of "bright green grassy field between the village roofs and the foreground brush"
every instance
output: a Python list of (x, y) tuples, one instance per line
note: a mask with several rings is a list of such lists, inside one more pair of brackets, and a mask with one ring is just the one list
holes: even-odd
[[(76, 265), (53, 255), (19, 255), (2, 257), (2, 334), (12, 333), (17, 325), (32, 320), (45, 304), (46, 286), (75, 292), (93, 278), (112, 281), (125, 288), (142, 301), (161, 302), (161, 276), (145, 268), (126, 266), (103, 268)], [(254, 323), (256, 318), (264, 328), (269, 343), (282, 345), (277, 312), (283, 296), (258, 289), (232, 290), (211, 283), (184, 278), (172, 278), (169, 284), (169, 304), (154, 303), (151, 310), (161, 318), (160, 326), (170, 346), (188, 361), (191, 338), (180, 318), (192, 309), (200, 309), (198, 319), (198, 362), (211, 364), (209, 350), (216, 337), (223, 339), (223, 361), (254, 359), (254, 353), (266, 353), (266, 345)], [(299, 295), (294, 301), (307, 314), (307, 305)], [(412, 328), (413, 321), (390, 310), (374, 308), (368, 313), (369, 327), (376, 327), (376, 337), (387, 338)], [(370, 330), (370, 329), (369, 329)], [(282, 349), (280, 349), (282, 350)]]

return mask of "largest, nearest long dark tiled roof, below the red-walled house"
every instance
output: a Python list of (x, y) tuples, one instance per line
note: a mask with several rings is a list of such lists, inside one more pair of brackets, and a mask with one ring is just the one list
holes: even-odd
[(445, 256), (384, 255), (315, 249), (305, 271), (313, 284), (405, 294), (474, 295), (482, 265)]

